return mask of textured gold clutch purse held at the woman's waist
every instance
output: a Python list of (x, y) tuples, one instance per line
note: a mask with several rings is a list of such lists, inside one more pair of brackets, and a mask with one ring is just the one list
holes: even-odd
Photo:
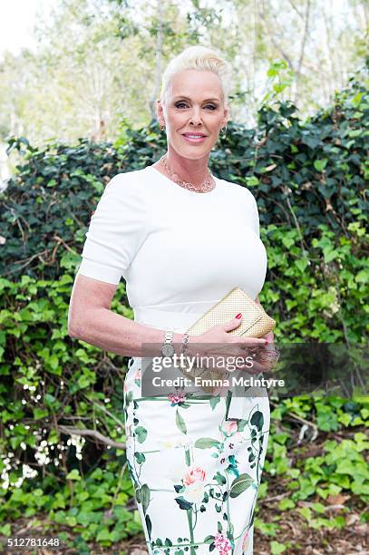
[[(187, 333), (189, 336), (199, 336), (208, 331), (210, 327), (225, 324), (239, 312), (242, 314), (242, 321), (236, 329), (228, 332), (231, 336), (262, 337), (276, 326), (276, 320), (268, 316), (263, 307), (257, 305), (243, 289), (234, 287), (216, 305), (200, 316), (199, 320), (189, 327)], [(192, 379), (199, 377), (201, 388), (207, 393), (214, 392), (213, 386), (204, 385), (209, 384), (207, 380), (224, 379), (225, 377), (222, 370), (208, 368), (204, 370), (199, 367), (193, 367), (190, 371), (185, 370), (183, 373)]]

